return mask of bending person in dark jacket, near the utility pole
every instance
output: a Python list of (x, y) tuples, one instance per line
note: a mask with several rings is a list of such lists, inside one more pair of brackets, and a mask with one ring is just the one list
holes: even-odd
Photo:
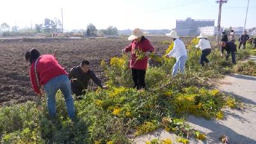
[(224, 49), (227, 51), (226, 60), (228, 60), (229, 54), (232, 57), (232, 63), (236, 64), (236, 44), (232, 41), (229, 42), (221, 42), (221, 57), (223, 56)]

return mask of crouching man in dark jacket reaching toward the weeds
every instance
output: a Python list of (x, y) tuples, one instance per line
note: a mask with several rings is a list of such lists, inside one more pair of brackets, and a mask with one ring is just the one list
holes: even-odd
[(68, 73), (68, 77), (71, 79), (72, 92), (77, 96), (84, 94), (83, 90), (87, 89), (90, 79), (100, 88), (106, 88), (106, 86), (102, 85), (93, 70), (90, 69), (90, 62), (86, 60), (83, 60), (81, 65), (72, 68)]

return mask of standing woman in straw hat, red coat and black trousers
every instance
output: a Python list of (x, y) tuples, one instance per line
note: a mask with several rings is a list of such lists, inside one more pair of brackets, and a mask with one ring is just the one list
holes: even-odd
[[(145, 38), (143, 32), (136, 28), (132, 31), (132, 35), (128, 40), (131, 40), (129, 44), (122, 52), (131, 52), (130, 68), (132, 70), (132, 80), (134, 82), (133, 88), (137, 90), (145, 89), (145, 75), (148, 64), (148, 56), (154, 51), (154, 47), (150, 44), (149, 40)], [(145, 57), (142, 60), (138, 60), (135, 52), (141, 51)]]

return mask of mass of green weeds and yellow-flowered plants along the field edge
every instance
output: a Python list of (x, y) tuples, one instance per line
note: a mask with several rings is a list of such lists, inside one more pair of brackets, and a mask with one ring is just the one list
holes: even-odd
[[(57, 93), (58, 116), (50, 120), (44, 102), (27, 102), (0, 108), (1, 143), (131, 143), (131, 138), (163, 128), (186, 138), (205, 140), (205, 135), (186, 124), (189, 114), (204, 118), (224, 117), (221, 108), (236, 108), (236, 100), (218, 90), (209, 90), (205, 80), (230, 72), (230, 61), (220, 58), (220, 51), (209, 56), (211, 65), (201, 67), (200, 51), (193, 40), (189, 45), (186, 74), (170, 77), (174, 59), (161, 58), (160, 67), (147, 70), (148, 90), (133, 88), (127, 56), (112, 58), (101, 66), (108, 81), (108, 90), (88, 91), (76, 101), (77, 120), (72, 122), (65, 109), (63, 95)], [(171, 48), (170, 48), (171, 49)], [(168, 50), (169, 51), (169, 50)], [(241, 57), (244, 52), (241, 52)], [(147, 143), (172, 143), (166, 139)]]

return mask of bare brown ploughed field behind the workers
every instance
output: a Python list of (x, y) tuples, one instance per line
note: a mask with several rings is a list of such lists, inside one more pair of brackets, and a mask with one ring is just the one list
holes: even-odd
[[(149, 37), (159, 54), (168, 45), (158, 42), (167, 37)], [(41, 54), (51, 54), (58, 50), (58, 61), (65, 68), (79, 65), (81, 60), (89, 60), (97, 76), (104, 81), (99, 67), (101, 60), (121, 56), (121, 50), (129, 44), (127, 38), (93, 38), (81, 40), (1, 40), (0, 41), (0, 106), (36, 100), (29, 79), (29, 64), (24, 61), (26, 51), (35, 47)]]

